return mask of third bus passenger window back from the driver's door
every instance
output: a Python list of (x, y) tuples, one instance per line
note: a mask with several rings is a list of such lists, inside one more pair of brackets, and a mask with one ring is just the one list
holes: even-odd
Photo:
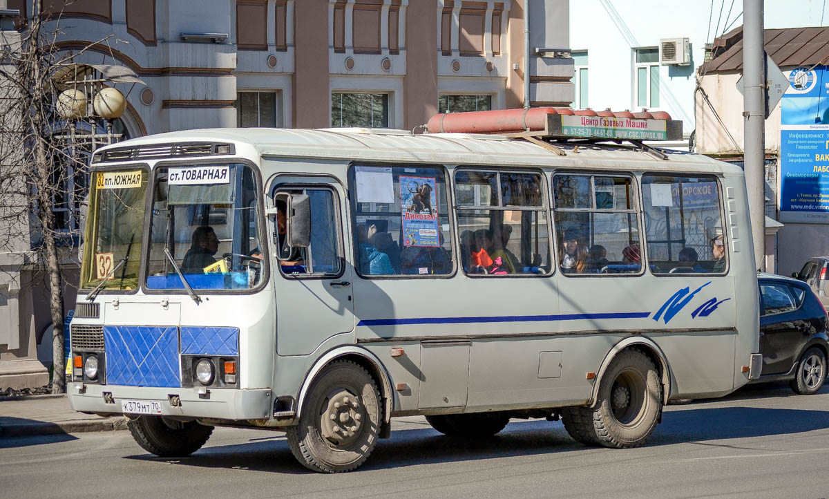
[(642, 271), (631, 177), (559, 174), (553, 177), (553, 189), (563, 274)]

